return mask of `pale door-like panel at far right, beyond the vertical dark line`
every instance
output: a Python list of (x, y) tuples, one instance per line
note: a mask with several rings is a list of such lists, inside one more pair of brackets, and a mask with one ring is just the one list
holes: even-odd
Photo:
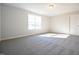
[(79, 14), (70, 15), (70, 34), (79, 35)]

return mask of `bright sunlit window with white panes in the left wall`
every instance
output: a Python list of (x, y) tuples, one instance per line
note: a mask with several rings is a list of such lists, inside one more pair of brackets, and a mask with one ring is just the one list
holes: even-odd
[(41, 16), (28, 14), (28, 29), (41, 29)]

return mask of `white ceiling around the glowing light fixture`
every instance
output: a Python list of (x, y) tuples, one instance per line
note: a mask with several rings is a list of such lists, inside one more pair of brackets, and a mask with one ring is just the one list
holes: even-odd
[(49, 3), (10, 3), (7, 5), (16, 6), (41, 15), (54, 16), (79, 10), (79, 3), (56, 3), (52, 9), (48, 8)]

